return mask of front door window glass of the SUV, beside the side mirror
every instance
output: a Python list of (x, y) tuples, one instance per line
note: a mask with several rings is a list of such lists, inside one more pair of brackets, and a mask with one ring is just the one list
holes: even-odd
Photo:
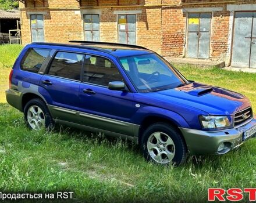
[(84, 60), (83, 82), (108, 86), (109, 82), (122, 81), (118, 68), (104, 57), (87, 55)]

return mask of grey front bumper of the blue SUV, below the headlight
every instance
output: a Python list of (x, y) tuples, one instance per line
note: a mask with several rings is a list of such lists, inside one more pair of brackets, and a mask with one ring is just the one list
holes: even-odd
[[(182, 131), (187, 148), (191, 154), (226, 154), (230, 150), (239, 147), (248, 139), (255, 137), (256, 133), (243, 141), (243, 133), (255, 125), (256, 119), (252, 119), (246, 125), (240, 126), (239, 128), (223, 131), (200, 131), (188, 128), (180, 128), (180, 131)], [(221, 143), (225, 144), (225, 148), (222, 151), (218, 151)]]

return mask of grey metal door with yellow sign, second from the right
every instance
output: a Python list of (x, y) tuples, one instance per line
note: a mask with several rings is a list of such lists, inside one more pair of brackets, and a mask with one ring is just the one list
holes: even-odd
[(211, 13), (189, 13), (187, 57), (209, 59)]

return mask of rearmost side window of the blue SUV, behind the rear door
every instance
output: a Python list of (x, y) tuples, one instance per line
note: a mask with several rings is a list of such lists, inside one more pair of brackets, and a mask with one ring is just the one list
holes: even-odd
[(51, 52), (51, 49), (29, 49), (23, 57), (20, 67), (24, 71), (38, 73), (42, 63)]

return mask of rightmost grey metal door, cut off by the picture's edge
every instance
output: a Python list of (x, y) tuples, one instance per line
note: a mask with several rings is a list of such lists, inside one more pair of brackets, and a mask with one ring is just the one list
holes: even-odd
[(256, 12), (236, 12), (232, 66), (256, 68)]

